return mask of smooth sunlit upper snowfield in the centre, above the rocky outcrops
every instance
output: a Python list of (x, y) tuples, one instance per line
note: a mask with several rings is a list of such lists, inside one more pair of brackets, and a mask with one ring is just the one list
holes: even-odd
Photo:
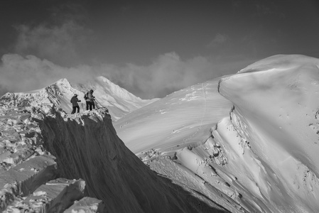
[(196, 146), (210, 136), (212, 123), (229, 114), (231, 102), (217, 92), (219, 79), (181, 89), (127, 114), (114, 124), (136, 154)]

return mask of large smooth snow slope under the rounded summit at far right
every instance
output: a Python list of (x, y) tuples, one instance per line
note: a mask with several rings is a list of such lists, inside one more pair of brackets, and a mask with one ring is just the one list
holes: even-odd
[(319, 211), (318, 66), (316, 58), (277, 55), (220, 83), (234, 103), (232, 123), (258, 156), (243, 159), (261, 168), (245, 175), (282, 212)]

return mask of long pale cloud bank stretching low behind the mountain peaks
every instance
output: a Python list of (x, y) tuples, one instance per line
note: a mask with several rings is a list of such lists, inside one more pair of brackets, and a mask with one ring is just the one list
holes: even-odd
[(146, 66), (99, 64), (63, 67), (33, 55), (23, 57), (17, 54), (3, 55), (1, 60), (0, 92), (27, 92), (47, 87), (61, 78), (85, 82), (104, 75), (142, 99), (165, 97), (193, 84), (235, 73), (250, 63), (245, 64), (242, 59), (220, 61), (202, 56), (183, 61), (176, 53), (159, 55)]

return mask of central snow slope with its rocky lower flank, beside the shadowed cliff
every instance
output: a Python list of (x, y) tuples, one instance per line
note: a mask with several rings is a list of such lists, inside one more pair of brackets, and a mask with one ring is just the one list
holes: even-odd
[[(185, 190), (204, 195), (230, 212), (254, 212), (255, 207), (245, 209), (240, 203), (242, 195), (229, 185), (231, 178), (224, 180), (215, 165), (209, 164), (226, 160), (222, 149), (207, 138), (212, 125), (228, 116), (232, 107), (218, 93), (218, 82), (211, 80), (174, 92), (127, 114), (114, 127), (141, 160)], [(195, 152), (198, 148), (207, 154), (199, 155)], [(243, 200), (246, 203), (248, 198)]]

